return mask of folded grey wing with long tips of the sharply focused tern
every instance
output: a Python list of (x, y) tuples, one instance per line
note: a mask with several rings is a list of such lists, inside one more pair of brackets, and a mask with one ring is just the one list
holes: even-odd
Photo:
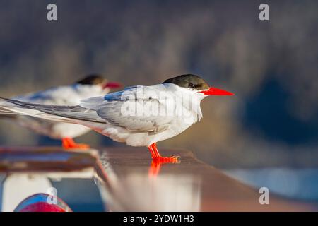
[[(153, 131), (158, 133), (167, 129), (172, 121), (173, 117), (152, 115), (147, 112), (145, 114), (126, 114), (122, 112), (122, 109), (126, 106), (136, 106), (136, 109), (141, 109), (148, 105), (145, 109), (149, 107), (157, 107), (158, 109), (163, 109), (164, 105), (158, 100), (107, 100), (103, 101), (99, 105), (98, 110), (88, 109), (81, 106), (57, 106), (57, 105), (39, 105), (32, 104), (28, 102), (21, 102), (18, 100), (4, 99), (6, 102), (10, 102), (18, 107), (34, 109), (40, 112), (45, 112), (47, 114), (56, 115), (59, 117), (67, 117), (69, 119), (78, 119), (84, 121), (92, 121), (95, 123), (108, 123), (114, 126), (122, 126), (130, 131)], [(67, 121), (66, 121), (67, 122)]]

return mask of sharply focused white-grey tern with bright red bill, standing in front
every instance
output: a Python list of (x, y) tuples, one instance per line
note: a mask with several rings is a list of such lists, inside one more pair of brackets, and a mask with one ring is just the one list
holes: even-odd
[(182, 133), (202, 117), (200, 102), (208, 95), (233, 95), (210, 87), (199, 76), (182, 75), (162, 84), (133, 86), (78, 106), (35, 105), (2, 99), (0, 106), (33, 117), (81, 124), (131, 146), (147, 146), (153, 160), (161, 157), (156, 143)]

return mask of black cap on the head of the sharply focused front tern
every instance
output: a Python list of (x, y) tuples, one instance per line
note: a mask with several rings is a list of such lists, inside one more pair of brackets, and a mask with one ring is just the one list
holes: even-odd
[(173, 83), (175, 85), (179, 85), (180, 87), (191, 88), (194, 90), (207, 90), (210, 88), (210, 85), (208, 85), (204, 79), (192, 74), (169, 78), (163, 83)]

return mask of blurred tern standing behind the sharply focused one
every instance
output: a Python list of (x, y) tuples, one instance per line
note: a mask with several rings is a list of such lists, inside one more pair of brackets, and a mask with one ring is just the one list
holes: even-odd
[[(119, 86), (119, 83), (108, 82), (102, 76), (90, 75), (73, 85), (58, 86), (12, 98), (42, 105), (78, 105), (82, 99), (105, 95), (109, 93), (111, 88), (118, 88)], [(88, 148), (88, 145), (77, 144), (73, 141), (73, 138), (90, 131), (86, 126), (47, 121), (25, 115), (13, 115), (10, 111), (2, 111), (2, 113), (0, 114), (1, 117), (12, 119), (21, 126), (25, 126), (37, 133), (51, 138), (62, 139), (64, 148)]]

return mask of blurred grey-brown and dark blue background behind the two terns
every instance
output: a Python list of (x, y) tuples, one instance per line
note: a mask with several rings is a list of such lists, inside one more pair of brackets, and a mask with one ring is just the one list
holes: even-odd
[[(57, 4), (55, 22), (47, 20), (49, 3)], [(266, 1), (269, 21), (259, 20), (261, 3), (0, 0), (0, 96), (87, 73), (125, 86), (194, 73), (235, 96), (206, 98), (202, 121), (160, 148), (187, 148), (230, 174), (317, 167), (318, 1)], [(95, 132), (76, 141), (124, 146)], [(60, 141), (1, 120), (0, 144)]]

